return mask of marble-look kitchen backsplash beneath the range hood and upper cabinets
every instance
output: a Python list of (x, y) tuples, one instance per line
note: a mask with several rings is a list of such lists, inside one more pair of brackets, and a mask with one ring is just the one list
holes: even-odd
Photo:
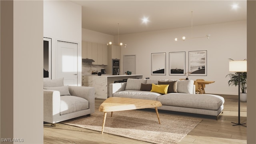
[(92, 74), (92, 71), (100, 72), (101, 69), (105, 69), (102, 65), (93, 65), (92, 62), (82, 62), (82, 74)]

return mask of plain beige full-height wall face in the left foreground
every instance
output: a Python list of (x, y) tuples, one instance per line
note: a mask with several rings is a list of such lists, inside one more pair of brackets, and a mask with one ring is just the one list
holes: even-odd
[(13, 2), (13, 138), (24, 140), (14, 143), (42, 144), (43, 1)]

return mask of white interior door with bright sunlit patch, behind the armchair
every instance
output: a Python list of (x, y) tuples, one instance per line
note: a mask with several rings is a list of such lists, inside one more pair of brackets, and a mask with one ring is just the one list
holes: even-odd
[(77, 48), (78, 44), (57, 41), (56, 78), (64, 77), (64, 85), (77, 86)]

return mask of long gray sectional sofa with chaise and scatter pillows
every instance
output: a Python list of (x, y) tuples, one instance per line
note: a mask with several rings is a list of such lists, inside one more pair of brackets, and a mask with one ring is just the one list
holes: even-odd
[[(150, 85), (152, 86), (152, 84), (158, 83), (169, 84), (167, 94), (150, 91), (150, 88), (152, 88)], [(195, 94), (193, 80), (129, 78), (127, 82), (110, 84), (109, 88), (110, 97), (158, 100), (162, 103), (162, 106), (158, 107), (160, 110), (216, 116), (216, 120), (218, 120), (218, 116), (224, 108), (224, 98), (222, 96), (214, 94)]]

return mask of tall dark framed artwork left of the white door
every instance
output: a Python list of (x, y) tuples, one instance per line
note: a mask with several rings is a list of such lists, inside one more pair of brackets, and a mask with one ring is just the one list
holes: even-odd
[(44, 38), (44, 79), (52, 79), (52, 39)]

